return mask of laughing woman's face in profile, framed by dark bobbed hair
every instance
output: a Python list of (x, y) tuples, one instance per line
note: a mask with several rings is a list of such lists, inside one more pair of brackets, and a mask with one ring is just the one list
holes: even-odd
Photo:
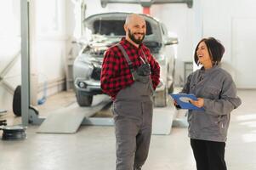
[(204, 66), (204, 67), (212, 67), (212, 59), (210, 57), (208, 48), (205, 44), (205, 42), (200, 42), (198, 45), (198, 48), (196, 49), (196, 55), (198, 58), (198, 61)]

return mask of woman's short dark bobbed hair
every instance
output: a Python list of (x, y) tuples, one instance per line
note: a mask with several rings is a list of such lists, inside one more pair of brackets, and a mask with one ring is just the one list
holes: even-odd
[(214, 64), (218, 65), (222, 59), (224, 52), (225, 52), (225, 48), (219, 42), (219, 40), (216, 40), (213, 37), (202, 38), (202, 40), (200, 42), (198, 42), (198, 44), (196, 45), (196, 49), (195, 49), (195, 53), (194, 53), (194, 60), (196, 62), (196, 65), (199, 65), (196, 50), (201, 42), (205, 42), (205, 44), (208, 48), (210, 58), (213, 60)]

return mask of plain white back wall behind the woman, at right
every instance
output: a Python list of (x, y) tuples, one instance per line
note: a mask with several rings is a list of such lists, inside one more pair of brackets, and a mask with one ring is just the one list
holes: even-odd
[(203, 36), (217, 37), (224, 43), (224, 66), (238, 88), (256, 88), (256, 2), (253, 0), (205, 0)]

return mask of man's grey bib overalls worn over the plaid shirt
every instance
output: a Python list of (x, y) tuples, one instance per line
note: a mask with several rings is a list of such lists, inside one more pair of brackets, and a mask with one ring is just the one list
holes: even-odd
[[(122, 50), (129, 66), (128, 54)], [(146, 59), (146, 56), (145, 56)], [(147, 61), (147, 59), (146, 59)], [(130, 67), (131, 68), (131, 67)], [(148, 156), (152, 124), (152, 82), (134, 82), (123, 88), (113, 102), (112, 111), (117, 139), (117, 170), (140, 169)]]

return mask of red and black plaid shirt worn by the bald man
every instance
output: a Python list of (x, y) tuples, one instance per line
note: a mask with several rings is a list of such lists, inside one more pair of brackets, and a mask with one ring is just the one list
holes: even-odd
[[(151, 65), (151, 79), (153, 88), (156, 89), (156, 86), (159, 83), (160, 67), (156, 62), (156, 59), (151, 55), (150, 49), (146, 48), (144, 44), (141, 44), (139, 48), (136, 48), (124, 37), (122, 37), (120, 44), (125, 49), (129, 59), (133, 62), (135, 70), (142, 64), (139, 56), (144, 59), (142, 53), (143, 50)], [(117, 93), (122, 88), (130, 86), (132, 83), (134, 83), (134, 80), (131, 71), (129, 70), (128, 62), (122, 55), (122, 51), (117, 46), (108, 48), (103, 59), (100, 77), (100, 85), (103, 92), (109, 94), (112, 99), (115, 99)]]

